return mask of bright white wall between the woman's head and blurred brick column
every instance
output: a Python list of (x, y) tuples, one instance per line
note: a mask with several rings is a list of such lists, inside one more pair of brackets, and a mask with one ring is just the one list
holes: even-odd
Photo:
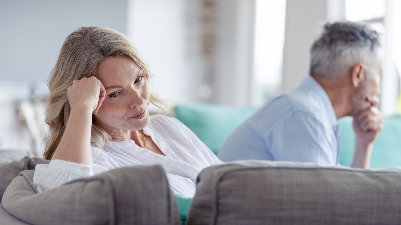
[(154, 92), (170, 105), (198, 99), (202, 64), (196, 2), (128, 1), (128, 37), (150, 64)]

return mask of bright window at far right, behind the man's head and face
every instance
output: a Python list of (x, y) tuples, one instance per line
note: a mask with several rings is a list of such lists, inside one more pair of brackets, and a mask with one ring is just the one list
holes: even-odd
[(394, 0), (346, 0), (345, 18), (353, 22), (367, 22), (383, 34), (381, 54), (381, 103), (383, 115), (401, 111), (399, 101), (399, 73), (401, 68), (401, 2)]

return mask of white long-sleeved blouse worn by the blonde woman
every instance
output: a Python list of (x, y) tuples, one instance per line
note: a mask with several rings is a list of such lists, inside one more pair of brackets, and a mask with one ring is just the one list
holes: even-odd
[(36, 165), (33, 182), (42, 192), (111, 169), (159, 164), (166, 172), (174, 194), (193, 197), (198, 173), (206, 167), (223, 163), (188, 127), (174, 117), (153, 115), (143, 131), (164, 155), (141, 148), (133, 140), (110, 141), (105, 143), (105, 151), (91, 147), (93, 165), (57, 159), (49, 164)]

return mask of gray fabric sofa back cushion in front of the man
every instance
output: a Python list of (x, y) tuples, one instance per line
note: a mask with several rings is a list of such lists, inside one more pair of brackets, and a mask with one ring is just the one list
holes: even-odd
[(239, 161), (204, 169), (188, 225), (401, 224), (401, 169)]

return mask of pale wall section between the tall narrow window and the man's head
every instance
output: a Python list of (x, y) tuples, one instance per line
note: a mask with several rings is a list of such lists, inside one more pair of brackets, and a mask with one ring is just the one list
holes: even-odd
[(287, 0), (282, 92), (309, 75), (310, 47), (326, 22), (344, 20), (344, 0)]

